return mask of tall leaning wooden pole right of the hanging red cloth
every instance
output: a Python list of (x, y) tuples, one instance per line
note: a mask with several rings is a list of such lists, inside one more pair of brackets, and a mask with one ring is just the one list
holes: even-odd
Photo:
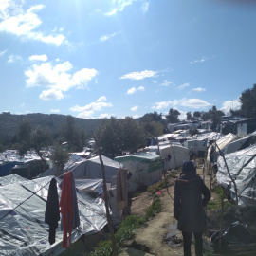
[(107, 193), (107, 187), (106, 187), (106, 176), (105, 176), (105, 169), (104, 169), (104, 163), (101, 157), (101, 148), (100, 145), (98, 144), (98, 141), (96, 140), (96, 137), (94, 137), (94, 134), (92, 133), (94, 141), (97, 145), (98, 148), (98, 153), (100, 157), (100, 162), (101, 162), (101, 171), (102, 171), (102, 177), (103, 177), (103, 192), (104, 192), (104, 201), (105, 201), (105, 209), (106, 209), (106, 216), (107, 216), (107, 223), (108, 223), (108, 228), (110, 232), (110, 238), (112, 242), (112, 249), (113, 249), (113, 256), (118, 256), (118, 248), (117, 248), (117, 243), (115, 239), (115, 233), (112, 225), (112, 219), (110, 216), (109, 208), (108, 208), (108, 193)]

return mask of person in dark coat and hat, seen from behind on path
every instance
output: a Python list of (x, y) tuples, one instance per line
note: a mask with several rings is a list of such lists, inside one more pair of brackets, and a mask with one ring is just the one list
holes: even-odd
[(192, 233), (196, 256), (203, 256), (203, 232), (207, 229), (204, 207), (211, 197), (203, 179), (196, 174), (192, 161), (184, 161), (174, 186), (174, 217), (182, 232), (184, 256), (191, 256)]

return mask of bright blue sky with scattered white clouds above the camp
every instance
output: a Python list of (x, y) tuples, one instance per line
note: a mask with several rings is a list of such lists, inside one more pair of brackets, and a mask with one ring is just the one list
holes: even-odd
[(0, 0), (0, 112), (229, 112), (256, 82), (247, 0)]

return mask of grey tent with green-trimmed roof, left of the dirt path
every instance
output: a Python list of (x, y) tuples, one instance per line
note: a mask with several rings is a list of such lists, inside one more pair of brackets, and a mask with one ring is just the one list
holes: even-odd
[(162, 178), (163, 161), (155, 152), (115, 157), (132, 176), (127, 181), (128, 192), (136, 191), (141, 185), (150, 186)]

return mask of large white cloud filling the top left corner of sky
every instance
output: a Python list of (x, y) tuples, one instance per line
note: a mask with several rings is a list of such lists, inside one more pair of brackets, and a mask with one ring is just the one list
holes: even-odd
[[(18, 4), (20, 2), (21, 4)], [(14, 34), (16, 36), (37, 40), (46, 44), (54, 44), (60, 46), (67, 43), (64, 35), (54, 32), (45, 34), (38, 28), (42, 25), (42, 21), (36, 14), (45, 8), (44, 5), (35, 5), (30, 9), (23, 9), (24, 1), (5, 1), (1, 3), (0, 8), (0, 32)]]

